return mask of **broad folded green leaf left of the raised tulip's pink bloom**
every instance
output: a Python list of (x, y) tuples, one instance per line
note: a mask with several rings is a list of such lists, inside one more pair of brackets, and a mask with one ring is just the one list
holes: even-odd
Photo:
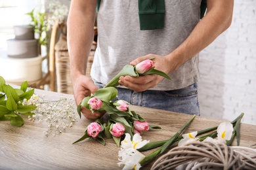
[(139, 74), (135, 72), (133, 65), (125, 65), (125, 67), (123, 67), (123, 69), (121, 69), (121, 71), (116, 76), (114, 76), (114, 78), (112, 78), (112, 80), (110, 80), (110, 82), (108, 82), (106, 86), (104, 86), (104, 88), (118, 86), (119, 84), (118, 81), (120, 76), (127, 76), (127, 75), (139, 76)]

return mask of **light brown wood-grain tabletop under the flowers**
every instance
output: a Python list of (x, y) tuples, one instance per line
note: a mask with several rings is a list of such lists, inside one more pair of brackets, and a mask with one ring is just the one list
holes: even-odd
[[(73, 95), (56, 92), (35, 90), (35, 93), (44, 94), (45, 99), (49, 100), (60, 99), (60, 96), (73, 99)], [(76, 109), (75, 105), (74, 109)], [(131, 106), (131, 110), (140, 114), (149, 124), (161, 127), (161, 129), (152, 129), (142, 134), (142, 139), (150, 142), (169, 139), (191, 118), (188, 114), (144, 107)], [(64, 133), (49, 137), (43, 134), (43, 131), (48, 129), (47, 122), (29, 121), (26, 116), (23, 118), (25, 123), (22, 127), (11, 126), (8, 121), (0, 122), (0, 169), (122, 168), (117, 165), (119, 147), (112, 139), (106, 139), (106, 146), (93, 139), (72, 144), (83, 135), (85, 128), (91, 123), (85, 117), (77, 118), (76, 124), (66, 129)], [(221, 122), (223, 120), (196, 116), (184, 133), (218, 126)], [(240, 146), (249, 147), (255, 144), (255, 131), (256, 126), (242, 124)], [(236, 140), (233, 145), (236, 145)], [(147, 155), (152, 151), (142, 152), (142, 154)], [(152, 163), (142, 169), (149, 169)]]

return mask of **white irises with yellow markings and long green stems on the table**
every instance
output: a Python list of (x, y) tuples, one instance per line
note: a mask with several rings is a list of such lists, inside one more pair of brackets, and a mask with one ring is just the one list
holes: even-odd
[[(143, 165), (146, 165), (150, 161), (153, 161), (156, 156), (164, 154), (167, 149), (171, 149), (175, 146), (184, 146), (185, 144), (192, 143), (194, 141), (210, 142), (226, 145), (232, 144), (234, 137), (236, 136), (237, 144), (240, 144), (240, 122), (244, 113), (240, 114), (238, 118), (230, 122), (222, 122), (219, 126), (204, 129), (202, 131), (194, 131), (191, 133), (182, 134), (182, 131), (192, 122), (195, 116), (192, 116), (184, 126), (170, 139), (166, 141), (158, 141), (150, 143), (149, 141), (142, 141), (140, 135), (134, 135), (131, 139), (131, 135), (125, 134), (125, 139), (121, 141), (121, 147), (118, 153), (119, 163), (117, 165), (124, 165), (123, 169), (140, 169)], [(217, 129), (217, 130), (216, 130)], [(215, 131), (216, 130), (216, 131)], [(211, 132), (211, 133), (210, 133)], [(203, 135), (205, 134), (206, 135)], [(197, 135), (202, 135), (196, 137)], [(144, 150), (150, 150), (157, 148), (148, 156), (144, 156), (141, 152)]]

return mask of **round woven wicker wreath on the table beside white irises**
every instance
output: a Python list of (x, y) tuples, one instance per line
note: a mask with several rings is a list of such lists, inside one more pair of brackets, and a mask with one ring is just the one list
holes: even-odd
[(151, 169), (256, 169), (256, 149), (194, 142), (171, 149)]

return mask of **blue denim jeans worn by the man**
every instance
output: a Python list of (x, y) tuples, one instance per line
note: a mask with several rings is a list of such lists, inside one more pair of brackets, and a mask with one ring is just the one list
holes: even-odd
[[(104, 87), (104, 84), (98, 82), (95, 82), (95, 84), (98, 88)], [(118, 90), (117, 99), (125, 100), (131, 105), (200, 115), (198, 84), (196, 83), (186, 88), (169, 91), (146, 90), (144, 92), (134, 92), (127, 88), (116, 89)]]

